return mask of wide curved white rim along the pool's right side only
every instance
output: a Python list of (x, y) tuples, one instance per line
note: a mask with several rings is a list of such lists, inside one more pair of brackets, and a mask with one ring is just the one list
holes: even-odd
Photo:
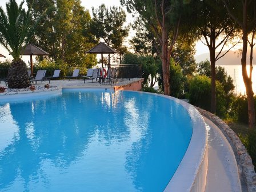
[(193, 126), (186, 153), (164, 191), (205, 191), (208, 166), (207, 130), (202, 115), (193, 105), (180, 99), (155, 93), (148, 94), (165, 97), (182, 105), (189, 113)]

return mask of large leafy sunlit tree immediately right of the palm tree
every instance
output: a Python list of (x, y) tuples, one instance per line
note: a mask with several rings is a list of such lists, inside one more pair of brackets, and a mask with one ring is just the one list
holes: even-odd
[(97, 43), (89, 31), (89, 10), (81, 6), (80, 0), (38, 0), (32, 7), (33, 16), (36, 18), (42, 7), (48, 5), (54, 6), (56, 11), (47, 14), (37, 27), (33, 42), (50, 53), (51, 61), (75, 67), (95, 65), (95, 55), (85, 54)]

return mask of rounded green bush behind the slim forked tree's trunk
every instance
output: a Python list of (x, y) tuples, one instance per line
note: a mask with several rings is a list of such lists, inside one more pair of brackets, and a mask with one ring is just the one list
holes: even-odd
[[(219, 116), (226, 115), (225, 92), (221, 83), (216, 81), (216, 112)], [(197, 75), (191, 79), (189, 84), (189, 101), (192, 105), (201, 107), (207, 111), (211, 107), (211, 79), (205, 75)]]

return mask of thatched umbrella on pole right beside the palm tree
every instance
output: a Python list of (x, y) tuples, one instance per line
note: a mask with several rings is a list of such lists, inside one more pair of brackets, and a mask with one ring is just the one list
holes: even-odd
[(50, 55), (41, 48), (29, 43), (26, 47), (22, 47), (21, 55), (30, 55), (30, 67), (31, 67), (31, 76), (33, 77), (33, 55)]

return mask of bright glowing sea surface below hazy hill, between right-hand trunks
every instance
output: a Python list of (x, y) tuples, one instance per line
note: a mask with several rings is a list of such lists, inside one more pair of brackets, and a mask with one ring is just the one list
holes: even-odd
[[(242, 75), (242, 66), (241, 65), (221, 65), (227, 72), (227, 75), (234, 81), (234, 92), (235, 93), (242, 93), (246, 94), (245, 83), (243, 82), (243, 75)], [(250, 67), (247, 65), (247, 73), (249, 75)], [(256, 69), (253, 69), (252, 74), (252, 81), (253, 81), (253, 91), (256, 94)]]

